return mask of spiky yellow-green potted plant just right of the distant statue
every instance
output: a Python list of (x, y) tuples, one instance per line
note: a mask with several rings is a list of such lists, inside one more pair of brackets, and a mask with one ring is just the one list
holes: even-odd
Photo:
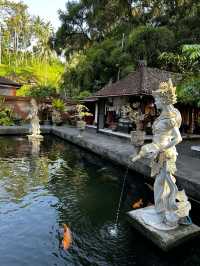
[(52, 122), (56, 126), (60, 126), (63, 123), (62, 112), (65, 110), (65, 103), (62, 99), (54, 99), (52, 101)]

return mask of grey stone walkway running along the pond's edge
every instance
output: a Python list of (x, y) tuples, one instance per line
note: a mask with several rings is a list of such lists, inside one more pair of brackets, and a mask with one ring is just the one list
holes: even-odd
[[(112, 137), (95, 131), (86, 131), (83, 137), (78, 137), (78, 130), (73, 127), (41, 127), (42, 132), (61, 137), (84, 149), (94, 152), (114, 163), (129, 166), (130, 169), (145, 176), (150, 176), (150, 167), (147, 160), (131, 163), (130, 155), (136, 154), (134, 147), (122, 138)], [(29, 127), (0, 127), (0, 135), (28, 134)], [(195, 140), (195, 145), (200, 145), (200, 139)], [(195, 156), (190, 150), (193, 143), (182, 142), (178, 145), (179, 156), (177, 160), (177, 182), (186, 190), (188, 195), (200, 201), (200, 156)]]

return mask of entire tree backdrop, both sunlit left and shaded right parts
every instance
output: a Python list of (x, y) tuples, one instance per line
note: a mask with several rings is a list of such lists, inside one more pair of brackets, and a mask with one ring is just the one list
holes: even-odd
[(199, 0), (69, 0), (59, 17), (54, 34), (23, 2), (0, 0), (0, 75), (24, 84), (18, 95), (83, 99), (139, 59), (183, 73), (180, 99), (198, 90)]

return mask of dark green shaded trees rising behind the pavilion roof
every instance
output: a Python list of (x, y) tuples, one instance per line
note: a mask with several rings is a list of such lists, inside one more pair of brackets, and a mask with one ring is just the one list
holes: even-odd
[(190, 78), (195, 72), (196, 80), (198, 0), (70, 0), (59, 14), (55, 49), (68, 60), (65, 95), (93, 93), (135, 70), (139, 59)]

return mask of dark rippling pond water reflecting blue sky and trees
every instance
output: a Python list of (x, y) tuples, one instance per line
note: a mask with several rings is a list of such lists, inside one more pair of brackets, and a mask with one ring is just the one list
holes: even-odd
[[(115, 222), (125, 169), (55, 137), (40, 152), (23, 137), (0, 138), (0, 265), (200, 265), (199, 239), (162, 253), (126, 221), (142, 198), (152, 202), (144, 179), (130, 173), (118, 233)], [(73, 236), (61, 245), (63, 224)]]

